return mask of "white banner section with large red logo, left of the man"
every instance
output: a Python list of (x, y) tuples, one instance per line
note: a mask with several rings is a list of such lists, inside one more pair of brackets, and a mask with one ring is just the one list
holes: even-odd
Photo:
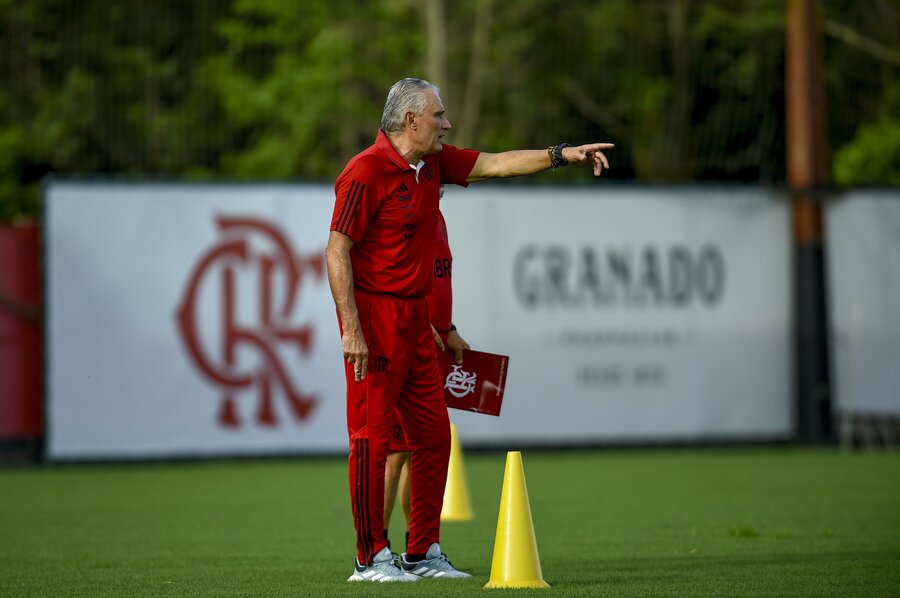
[(325, 186), (54, 184), (51, 457), (335, 452)]

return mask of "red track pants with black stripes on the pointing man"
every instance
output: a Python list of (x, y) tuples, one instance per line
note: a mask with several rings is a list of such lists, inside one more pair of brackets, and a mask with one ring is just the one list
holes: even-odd
[(369, 347), (365, 380), (345, 362), (350, 501), (360, 563), (385, 545), (384, 467), (396, 418), (410, 450), (411, 554), (440, 541), (441, 507), (450, 461), (450, 420), (425, 299), (357, 290), (356, 306)]

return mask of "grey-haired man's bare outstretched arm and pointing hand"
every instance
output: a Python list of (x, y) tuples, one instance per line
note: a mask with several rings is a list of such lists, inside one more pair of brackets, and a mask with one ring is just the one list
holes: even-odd
[[(609, 161), (603, 150), (615, 147), (612, 143), (588, 143), (586, 145), (561, 148), (560, 155), (565, 163), (591, 164), (594, 176), (600, 176), (604, 168), (609, 169)], [(466, 182), (474, 183), (487, 179), (510, 178), (535, 174), (553, 166), (549, 150), (512, 150), (490, 154), (481, 152)]]

